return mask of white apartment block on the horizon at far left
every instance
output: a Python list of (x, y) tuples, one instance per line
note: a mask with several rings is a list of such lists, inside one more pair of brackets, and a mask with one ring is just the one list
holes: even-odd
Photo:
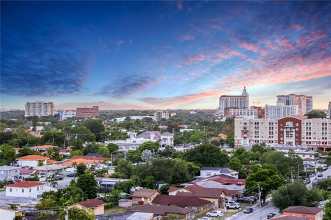
[(25, 110), (25, 117), (54, 116), (55, 107), (53, 102), (26, 102)]

